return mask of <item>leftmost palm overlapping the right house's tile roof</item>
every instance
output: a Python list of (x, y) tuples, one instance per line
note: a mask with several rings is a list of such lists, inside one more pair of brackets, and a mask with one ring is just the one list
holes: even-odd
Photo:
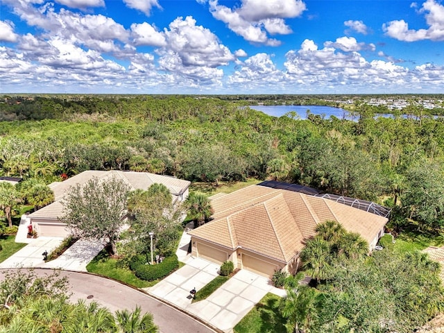
[(332, 262), (330, 245), (323, 238), (309, 239), (305, 248), (300, 251), (300, 259), (302, 268), (317, 282), (327, 279), (330, 275)]

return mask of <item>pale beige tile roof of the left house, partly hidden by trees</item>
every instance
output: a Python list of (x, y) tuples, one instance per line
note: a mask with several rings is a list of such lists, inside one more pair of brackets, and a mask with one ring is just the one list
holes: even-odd
[(181, 180), (170, 176), (155, 175), (148, 172), (135, 172), (135, 171), (99, 171), (99, 170), (87, 170), (79, 173), (78, 175), (68, 178), (63, 182), (53, 182), (49, 185), (54, 192), (54, 202), (51, 205), (37, 210), (29, 215), (30, 218), (45, 218), (45, 219), (57, 219), (58, 216), (62, 216), (63, 206), (60, 200), (68, 193), (69, 189), (78, 184), (84, 184), (93, 177), (99, 178), (99, 180), (106, 180), (112, 177), (119, 178), (126, 182), (131, 190), (134, 189), (148, 189), (154, 183), (160, 183), (165, 185), (173, 196), (178, 196), (185, 192), (190, 185), (188, 180)]

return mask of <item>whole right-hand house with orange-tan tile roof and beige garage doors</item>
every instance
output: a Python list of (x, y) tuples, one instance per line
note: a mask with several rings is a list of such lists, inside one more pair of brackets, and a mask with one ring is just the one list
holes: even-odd
[[(316, 195), (316, 193), (313, 193)], [(375, 248), (388, 219), (329, 198), (289, 189), (252, 185), (211, 199), (212, 221), (189, 232), (191, 253), (217, 264), (270, 277), (278, 269), (294, 273), (305, 241), (325, 221), (359, 232)]]

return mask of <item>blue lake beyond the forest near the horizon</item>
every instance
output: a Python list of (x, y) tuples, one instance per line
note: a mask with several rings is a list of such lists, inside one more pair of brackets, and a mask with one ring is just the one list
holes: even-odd
[(250, 108), (273, 117), (281, 117), (288, 112), (295, 111), (300, 119), (307, 119), (307, 110), (310, 110), (312, 114), (319, 114), (321, 117), (324, 115), (325, 119), (329, 119), (330, 116), (339, 119), (352, 119), (344, 109), (324, 105), (250, 105)]

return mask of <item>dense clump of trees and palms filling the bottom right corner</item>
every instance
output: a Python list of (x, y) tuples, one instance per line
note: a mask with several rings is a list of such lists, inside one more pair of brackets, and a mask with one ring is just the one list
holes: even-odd
[[(296, 332), (412, 332), (444, 309), (440, 264), (418, 251), (368, 244), (334, 222), (318, 225), (300, 255), (304, 270), (286, 281), (282, 314)], [(359, 259), (360, 258), (360, 259)], [(311, 275), (316, 288), (298, 279)]]

